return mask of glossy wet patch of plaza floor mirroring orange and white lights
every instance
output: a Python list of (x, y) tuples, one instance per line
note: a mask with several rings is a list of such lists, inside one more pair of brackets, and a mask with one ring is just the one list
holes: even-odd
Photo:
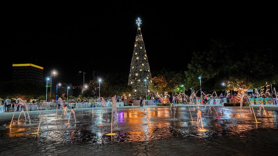
[[(222, 108), (215, 107), (221, 116)], [(1, 121), (0, 138), (13, 138), (15, 140), (30, 139), (34, 142), (40, 142), (48, 145), (48, 142), (68, 142), (68, 143), (89, 143), (89, 144), (117, 144), (117, 143), (136, 143), (153, 142), (162, 139), (188, 139), (188, 138), (223, 138), (223, 137), (246, 137), (252, 136), (254, 132), (260, 132), (266, 129), (277, 129), (277, 112), (268, 111), (270, 117), (257, 115), (257, 120), (262, 123), (254, 123), (253, 113), (244, 109), (241, 113), (238, 108), (225, 107), (223, 118), (217, 118), (214, 112), (209, 111), (209, 107), (201, 107), (202, 121), (207, 132), (197, 131), (196, 123), (189, 122), (191, 117), (188, 107), (178, 107), (176, 110), (169, 107), (155, 108), (150, 110), (151, 123), (147, 126), (147, 110), (144, 109), (122, 109), (118, 110), (118, 127), (113, 128), (113, 133), (118, 135), (107, 136), (111, 132), (111, 110), (103, 110), (102, 125), (100, 125), (100, 110), (95, 110), (93, 114), (89, 111), (81, 110), (76, 112), (74, 123), (73, 115), (70, 118), (70, 125), (64, 125), (68, 122), (69, 113), (62, 115), (62, 118), (55, 118), (56, 114), (47, 114), (48, 127), (44, 120), (40, 125), (41, 134), (31, 134), (37, 131), (39, 117), (31, 116), (31, 125), (25, 122), (22, 117), (19, 122), (14, 121), (10, 128), (6, 128), (10, 121)], [(208, 112), (209, 111), (209, 112)], [(176, 112), (176, 113), (175, 113)], [(175, 113), (175, 119), (174, 119)], [(43, 114), (43, 113), (42, 113)], [(193, 120), (197, 120), (197, 109), (191, 108)], [(61, 114), (60, 114), (61, 115)], [(58, 116), (60, 117), (58, 114)], [(16, 117), (17, 119), (17, 117)], [(6, 139), (8, 140), (8, 139)], [(167, 155), (167, 154), (166, 154)]]

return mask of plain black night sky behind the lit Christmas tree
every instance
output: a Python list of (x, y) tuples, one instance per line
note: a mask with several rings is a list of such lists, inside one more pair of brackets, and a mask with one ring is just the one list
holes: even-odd
[(255, 8), (242, 11), (244, 8), (219, 10), (117, 2), (74, 6), (64, 6), (66, 10), (59, 11), (51, 7), (12, 7), (2, 14), (1, 80), (12, 78), (13, 63), (42, 66), (44, 78), (56, 70), (59, 74), (52, 80), (73, 85), (83, 84), (79, 71), (87, 73), (85, 83), (93, 78), (93, 70), (100, 78), (116, 72), (128, 76), (138, 17), (142, 20), (151, 71), (185, 71), (193, 51), (208, 48), (212, 38), (261, 34), (275, 38), (273, 34), (277, 34), (277, 14)]

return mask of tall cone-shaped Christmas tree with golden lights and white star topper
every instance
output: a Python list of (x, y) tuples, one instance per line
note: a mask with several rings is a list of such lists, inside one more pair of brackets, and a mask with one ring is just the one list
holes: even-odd
[(151, 83), (151, 72), (145, 50), (145, 44), (141, 34), (140, 24), (141, 20), (136, 20), (138, 23), (137, 34), (131, 59), (131, 66), (128, 78), (128, 85), (132, 86), (131, 97), (139, 99), (140, 96), (146, 96), (146, 87), (148, 92), (148, 84)]

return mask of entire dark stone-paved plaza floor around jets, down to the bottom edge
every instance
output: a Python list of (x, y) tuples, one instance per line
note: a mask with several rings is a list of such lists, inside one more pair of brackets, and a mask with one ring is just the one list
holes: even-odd
[[(196, 106), (196, 105), (195, 105)], [(264, 105), (256, 119), (249, 107), (240, 112), (239, 107), (211, 105), (193, 109), (193, 105), (146, 106), (150, 108), (150, 123), (147, 125), (147, 109), (122, 106), (117, 110), (118, 119), (111, 133), (111, 107), (76, 109), (76, 121), (62, 110), (30, 111), (31, 125), (19, 112), (0, 113), (1, 155), (276, 155), (278, 152), (278, 106)], [(74, 109), (73, 109), (74, 110)], [(197, 110), (201, 110), (203, 127), (209, 131), (197, 131)], [(45, 114), (48, 122), (41, 120), (37, 132), (39, 113)], [(223, 113), (223, 115), (221, 115)], [(27, 115), (27, 113), (26, 113)], [(62, 118), (59, 118), (61, 117)], [(68, 118), (70, 116), (70, 125)], [(102, 117), (102, 118), (101, 118)], [(103, 126), (98, 126), (102, 124)]]

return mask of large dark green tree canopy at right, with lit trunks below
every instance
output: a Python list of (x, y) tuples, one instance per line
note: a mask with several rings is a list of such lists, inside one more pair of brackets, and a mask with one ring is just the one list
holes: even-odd
[(185, 72), (187, 85), (200, 86), (199, 76), (206, 91), (244, 86), (253, 89), (266, 82), (277, 83), (273, 73), (277, 71), (277, 45), (271, 42), (275, 41), (264, 36), (211, 40), (208, 50), (193, 53)]

